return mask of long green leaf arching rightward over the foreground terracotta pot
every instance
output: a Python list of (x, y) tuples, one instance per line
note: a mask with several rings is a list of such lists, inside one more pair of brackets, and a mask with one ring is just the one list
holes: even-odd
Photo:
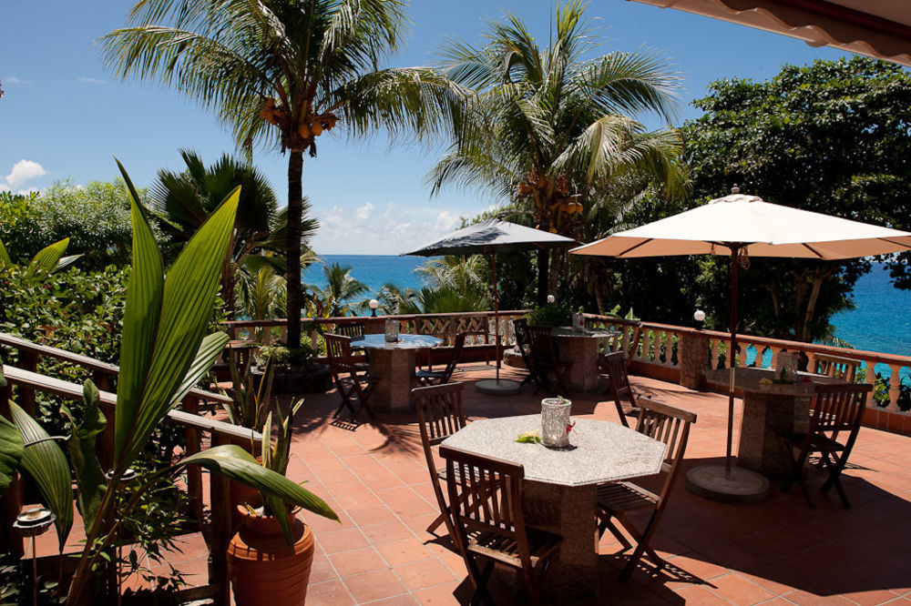
[(181, 460), (180, 465), (199, 465), (214, 473), (219, 473), (230, 480), (240, 482), (281, 499), (286, 503), (297, 505), (304, 510), (312, 511), (323, 518), (338, 521), (338, 515), (322, 499), (310, 490), (295, 484), (280, 473), (267, 470), (253, 456), (240, 446), (229, 444), (203, 450)]

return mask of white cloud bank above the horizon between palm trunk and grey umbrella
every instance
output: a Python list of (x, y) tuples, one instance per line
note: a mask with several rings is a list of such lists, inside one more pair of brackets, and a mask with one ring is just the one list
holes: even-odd
[(398, 255), (453, 231), (462, 217), (439, 207), (314, 207), (320, 230), (312, 247), (322, 255)]

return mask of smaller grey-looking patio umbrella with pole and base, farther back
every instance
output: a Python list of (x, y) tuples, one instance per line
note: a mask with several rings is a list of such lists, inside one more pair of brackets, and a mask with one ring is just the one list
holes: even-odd
[(525, 227), (499, 219), (487, 219), (462, 227), (401, 256), (436, 257), (438, 255), (490, 255), (494, 273), (494, 332), (496, 334), (496, 379), (476, 383), (476, 389), (490, 394), (516, 393), (516, 381), (500, 380), (500, 303), (496, 293), (496, 253), (514, 250), (570, 247), (578, 242), (571, 237)]

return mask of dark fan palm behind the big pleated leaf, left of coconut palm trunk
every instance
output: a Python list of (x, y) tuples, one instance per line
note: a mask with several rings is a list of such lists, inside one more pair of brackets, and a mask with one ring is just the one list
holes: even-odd
[[(241, 186), (237, 217), (229, 244), (229, 258), (221, 275), (221, 298), (229, 318), (234, 305), (238, 274), (253, 278), (264, 267), (284, 268), (287, 214), (277, 209), (275, 192), (260, 171), (246, 162), (225, 154), (206, 167), (193, 151), (182, 149), (186, 169), (179, 173), (159, 170), (158, 180), (149, 190), (149, 207), (159, 227), (171, 242), (176, 256), (234, 187)], [(302, 201), (302, 246), (316, 232), (319, 224), (307, 217), (310, 204)], [(248, 279), (249, 281), (249, 279)]]

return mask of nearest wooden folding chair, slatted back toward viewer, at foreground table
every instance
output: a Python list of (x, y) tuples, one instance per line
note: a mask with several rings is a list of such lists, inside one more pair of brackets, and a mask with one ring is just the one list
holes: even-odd
[(528, 601), (539, 604), (541, 576), (563, 538), (525, 525), (525, 469), (445, 445), (440, 447), (440, 456), (446, 460), (455, 537), (475, 586), (472, 603), (495, 603), (486, 583), (497, 563), (521, 571)]

